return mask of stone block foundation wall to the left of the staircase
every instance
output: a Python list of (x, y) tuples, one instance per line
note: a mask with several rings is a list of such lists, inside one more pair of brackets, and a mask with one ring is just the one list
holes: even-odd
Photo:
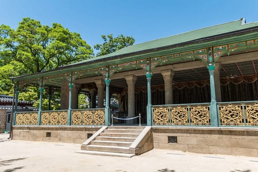
[[(82, 144), (88, 134), (98, 131), (101, 126), (13, 126), (13, 140), (65, 142)], [(47, 137), (47, 132), (51, 133)]]

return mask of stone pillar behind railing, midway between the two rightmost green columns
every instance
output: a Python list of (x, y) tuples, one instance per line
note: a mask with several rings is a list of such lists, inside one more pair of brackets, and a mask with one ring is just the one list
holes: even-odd
[(165, 86), (165, 104), (171, 105), (173, 103), (172, 80), (175, 72), (169, 69), (169, 70), (162, 70), (161, 74), (163, 76), (164, 86)]

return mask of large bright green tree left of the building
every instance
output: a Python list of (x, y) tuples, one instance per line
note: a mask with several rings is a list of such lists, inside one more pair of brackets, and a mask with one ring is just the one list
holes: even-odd
[(24, 18), (16, 30), (0, 26), (0, 62), (17, 61), (24, 66), (26, 74), (54, 69), (91, 56), (93, 50), (80, 35), (58, 23), (50, 27)]

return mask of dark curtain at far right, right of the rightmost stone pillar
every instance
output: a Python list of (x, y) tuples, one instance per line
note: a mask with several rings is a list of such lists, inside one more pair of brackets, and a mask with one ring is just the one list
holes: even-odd
[(258, 81), (254, 83), (241, 82), (234, 84), (229, 82), (221, 85), (222, 102), (255, 101), (258, 100)]

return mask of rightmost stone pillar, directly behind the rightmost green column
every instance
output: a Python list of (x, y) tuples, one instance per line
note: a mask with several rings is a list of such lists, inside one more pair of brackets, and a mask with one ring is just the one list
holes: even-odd
[(214, 84), (215, 84), (215, 94), (216, 94), (216, 101), (221, 102), (221, 90), (220, 90), (220, 68), (221, 65), (219, 62), (215, 64), (214, 68)]

